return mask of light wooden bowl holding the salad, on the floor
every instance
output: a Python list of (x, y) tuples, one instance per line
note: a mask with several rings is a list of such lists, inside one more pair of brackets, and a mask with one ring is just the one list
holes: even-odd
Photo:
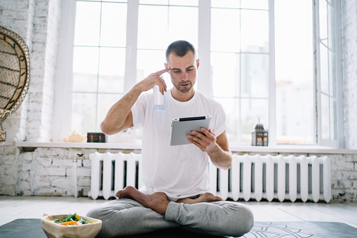
[[(78, 237), (78, 238), (94, 238), (102, 228), (102, 220), (95, 218), (89, 218), (87, 216), (81, 216), (81, 218), (86, 219), (88, 224), (83, 225), (60, 225), (53, 223), (46, 218), (58, 219), (61, 220), (65, 218), (68, 214), (61, 215), (48, 215), (41, 218), (41, 227), (43, 232), (45, 232), (48, 238), (69, 238), (69, 237)], [(97, 220), (95, 223), (91, 223)]]

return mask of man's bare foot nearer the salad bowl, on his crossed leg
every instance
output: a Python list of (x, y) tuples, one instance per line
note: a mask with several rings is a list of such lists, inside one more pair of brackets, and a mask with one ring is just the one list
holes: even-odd
[(163, 192), (154, 192), (153, 194), (143, 194), (135, 187), (128, 186), (124, 190), (119, 190), (115, 194), (116, 197), (129, 198), (142, 204), (142, 206), (152, 209), (161, 215), (165, 215), (166, 209), (170, 201), (168, 197)]

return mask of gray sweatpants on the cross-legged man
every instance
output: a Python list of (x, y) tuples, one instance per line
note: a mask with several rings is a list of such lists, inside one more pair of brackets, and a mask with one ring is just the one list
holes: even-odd
[(250, 231), (252, 211), (234, 201), (178, 204), (170, 201), (165, 216), (132, 199), (116, 199), (90, 210), (87, 216), (102, 220), (98, 237), (141, 234), (183, 225), (191, 231), (240, 237)]

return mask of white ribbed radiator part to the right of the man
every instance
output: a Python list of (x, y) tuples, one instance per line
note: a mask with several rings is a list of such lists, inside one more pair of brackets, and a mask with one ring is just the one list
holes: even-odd
[(229, 170), (210, 163), (209, 173), (211, 190), (222, 199), (331, 199), (330, 159), (326, 156), (234, 154)]

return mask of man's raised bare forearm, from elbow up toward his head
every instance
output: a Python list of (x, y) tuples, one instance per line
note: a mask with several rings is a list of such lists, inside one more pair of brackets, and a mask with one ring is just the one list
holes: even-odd
[(110, 108), (104, 121), (100, 124), (103, 133), (113, 135), (125, 129), (123, 125), (126, 122), (131, 107), (133, 107), (137, 98), (139, 98), (140, 93), (142, 93), (140, 86), (135, 85), (123, 98)]

